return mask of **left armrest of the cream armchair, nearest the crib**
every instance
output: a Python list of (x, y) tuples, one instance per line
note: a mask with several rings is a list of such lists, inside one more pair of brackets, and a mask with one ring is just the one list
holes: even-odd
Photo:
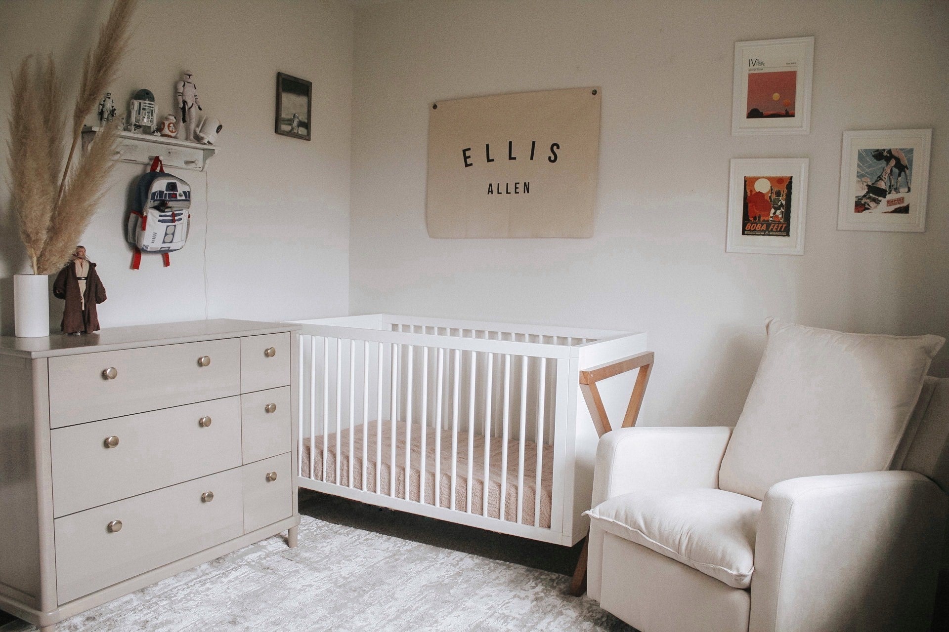
[(717, 487), (732, 436), (726, 426), (634, 426), (607, 432), (597, 445), (593, 504), (634, 489)]

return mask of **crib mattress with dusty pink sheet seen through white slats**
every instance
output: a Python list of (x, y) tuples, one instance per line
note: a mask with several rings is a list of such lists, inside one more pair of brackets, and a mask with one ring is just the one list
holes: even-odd
[[(382, 422), (381, 461), (377, 460), (377, 437), (379, 424), (372, 421), (367, 431), (363, 424), (357, 424), (353, 433), (353, 454), (349, 454), (349, 429), (344, 428), (340, 434), (339, 454), (336, 451), (336, 433), (326, 435), (326, 482), (349, 486), (349, 461), (352, 460), (352, 487), (367, 492), (375, 492), (389, 496), (392, 489), (392, 424)], [(405, 443), (407, 430), (411, 429), (411, 457), (409, 459), (408, 477), (405, 473)], [(367, 437), (365, 435), (368, 435)], [(406, 484), (408, 498), (419, 502), (421, 490), (421, 435), (422, 426), (411, 424), (411, 428), (403, 422), (396, 424), (396, 465), (395, 465), (395, 497), (405, 498)], [(436, 463), (436, 435), (437, 430), (429, 427), (425, 432), (425, 498), (423, 502), (435, 505), (435, 463)], [(363, 442), (366, 445), (365, 479), (363, 480)], [(502, 447), (500, 438), (490, 438), (489, 470), (487, 485), (484, 480), (484, 445), (485, 438), (481, 435), (472, 435), (474, 442), (472, 451), (472, 499), (471, 513), (484, 514), (484, 503), (487, 499), (489, 517), (501, 516), (501, 471)], [(310, 445), (313, 452), (313, 479), (324, 480), (323, 477), (323, 435), (307, 437), (303, 441), (301, 465), (303, 476), (310, 475)], [(542, 446), (540, 490), (537, 490), (537, 444), (524, 442), (524, 486), (521, 508), (521, 522), (534, 525), (535, 501), (540, 494), (539, 526), (550, 528), (550, 489), (553, 481), (553, 448)], [(452, 501), (452, 432), (443, 430), (440, 437), (439, 473), (438, 473), (438, 505), (451, 508)], [(517, 521), (517, 480), (518, 480), (518, 450), (519, 443), (508, 442), (507, 478), (505, 480), (504, 516), (503, 519)], [(468, 500), (468, 454), (469, 435), (467, 432), (457, 434), (455, 509), (467, 512)], [(336, 463), (339, 460), (339, 480), (336, 479)], [(376, 489), (376, 472), (379, 471), (380, 489)]]

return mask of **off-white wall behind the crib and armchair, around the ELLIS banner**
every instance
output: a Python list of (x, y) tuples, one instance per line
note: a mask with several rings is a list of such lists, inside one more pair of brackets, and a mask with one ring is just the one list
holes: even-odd
[[(816, 37), (811, 133), (731, 135), (735, 41)], [(945, 2), (433, 0), (356, 14), (350, 310), (648, 332), (646, 424), (734, 424), (766, 316), (949, 334)], [(596, 234), (433, 240), (437, 99), (603, 89)], [(844, 130), (933, 128), (926, 232), (837, 231)], [(803, 257), (725, 253), (729, 158), (810, 158)], [(934, 372), (949, 371), (942, 352)], [(780, 388), (780, 385), (774, 385)]]

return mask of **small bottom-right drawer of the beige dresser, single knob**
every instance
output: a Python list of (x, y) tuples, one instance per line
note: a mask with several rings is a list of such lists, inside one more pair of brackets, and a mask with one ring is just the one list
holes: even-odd
[(244, 479), (244, 533), (251, 533), (293, 513), (290, 454), (258, 460), (241, 468)]

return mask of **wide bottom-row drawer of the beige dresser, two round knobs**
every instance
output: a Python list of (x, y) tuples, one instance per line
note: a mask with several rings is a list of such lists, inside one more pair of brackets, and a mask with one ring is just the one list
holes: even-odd
[[(214, 493), (210, 502), (205, 492)], [(242, 505), (235, 468), (57, 518), (59, 603), (240, 536)], [(116, 520), (121, 529), (110, 531)]]

